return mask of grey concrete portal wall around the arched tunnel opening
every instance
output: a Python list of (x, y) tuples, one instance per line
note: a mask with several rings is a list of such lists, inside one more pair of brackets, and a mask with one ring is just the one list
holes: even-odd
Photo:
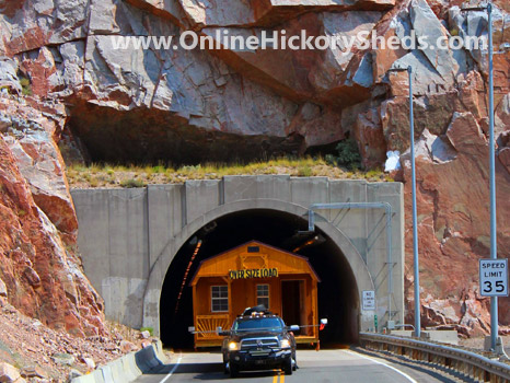
[[(80, 224), (78, 243), (92, 285), (105, 300), (106, 316), (160, 333), (160, 295), (181, 246), (204, 225), (231, 212), (273, 209), (306, 218), (317, 202), (385, 201), (392, 205), (392, 311), (404, 318), (404, 209), (399, 183), (333, 181), (326, 177), (225, 176), (136, 189), (72, 190)], [(317, 212), (317, 227), (341, 249), (356, 277), (359, 302), (375, 290), (376, 310), (359, 307), (361, 330), (387, 321), (384, 211)]]

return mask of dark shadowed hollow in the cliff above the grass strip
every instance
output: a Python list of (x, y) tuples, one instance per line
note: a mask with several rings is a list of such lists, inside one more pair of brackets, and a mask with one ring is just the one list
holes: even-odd
[(78, 141), (84, 161), (100, 164), (245, 164), (301, 155), (304, 148), (298, 134), (223, 131), (165, 111), (117, 111), (93, 104), (73, 106), (67, 131)]

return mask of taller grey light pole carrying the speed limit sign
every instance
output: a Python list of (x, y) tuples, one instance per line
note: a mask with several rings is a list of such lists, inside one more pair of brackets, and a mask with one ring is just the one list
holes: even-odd
[[(461, 8), (461, 11), (487, 11), (489, 54), (489, 194), (490, 194), (490, 258), (498, 258), (496, 232), (496, 156), (494, 140), (494, 61), (492, 61), (492, 4)], [(498, 337), (498, 297), (490, 297), (490, 348), (496, 350)]]

